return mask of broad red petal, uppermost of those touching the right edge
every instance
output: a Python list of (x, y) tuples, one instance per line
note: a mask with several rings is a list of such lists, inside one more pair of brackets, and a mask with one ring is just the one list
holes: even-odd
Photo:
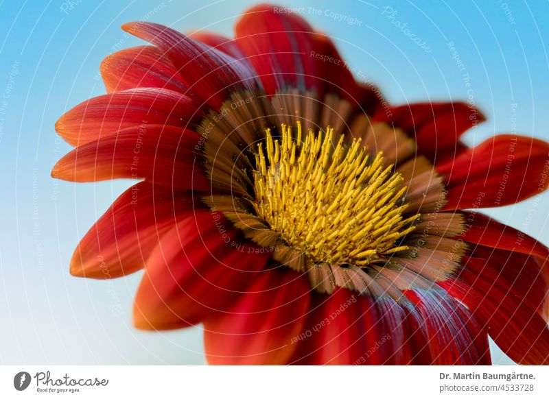
[(515, 204), (549, 186), (549, 143), (502, 134), (436, 170), (446, 176), (445, 210)]

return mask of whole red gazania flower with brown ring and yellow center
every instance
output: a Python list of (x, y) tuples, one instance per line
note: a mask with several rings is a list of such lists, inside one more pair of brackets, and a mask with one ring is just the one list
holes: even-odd
[[(53, 176), (139, 180), (71, 274), (144, 268), (138, 328), (203, 324), (210, 363), (548, 363), (547, 259), (476, 212), (548, 186), (549, 144), (463, 103), (389, 105), (327, 36), (270, 5), (235, 38), (154, 23), (64, 114)], [(466, 211), (465, 209), (474, 209)]]

